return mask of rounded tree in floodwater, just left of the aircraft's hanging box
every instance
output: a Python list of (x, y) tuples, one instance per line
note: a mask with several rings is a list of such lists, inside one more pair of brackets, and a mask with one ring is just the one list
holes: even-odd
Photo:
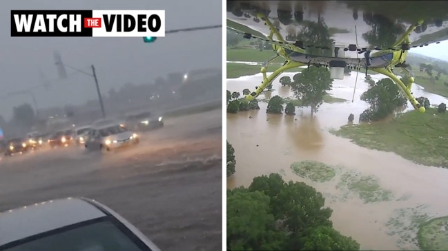
[(330, 72), (324, 67), (309, 67), (300, 74), (295, 74), (291, 86), (295, 96), (302, 101), (304, 107), (311, 107), (311, 116), (318, 111), (324, 96), (333, 84)]

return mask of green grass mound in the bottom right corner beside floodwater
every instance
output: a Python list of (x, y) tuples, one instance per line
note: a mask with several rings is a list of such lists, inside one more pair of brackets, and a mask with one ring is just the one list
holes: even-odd
[(417, 239), (422, 250), (448, 250), (448, 217), (420, 224)]

